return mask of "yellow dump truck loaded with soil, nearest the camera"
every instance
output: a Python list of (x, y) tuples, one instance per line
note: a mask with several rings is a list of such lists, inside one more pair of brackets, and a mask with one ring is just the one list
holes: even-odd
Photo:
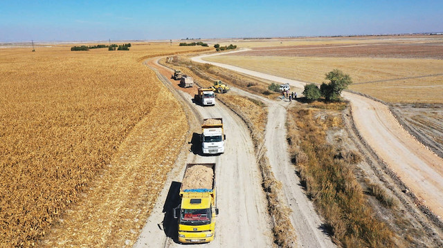
[(215, 164), (186, 164), (180, 188), (181, 204), (174, 209), (179, 220), (179, 242), (210, 242), (219, 214), (215, 195)]

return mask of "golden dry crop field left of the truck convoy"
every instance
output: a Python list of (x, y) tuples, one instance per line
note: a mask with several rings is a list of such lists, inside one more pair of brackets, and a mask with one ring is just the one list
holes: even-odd
[[(0, 247), (36, 245), (60, 216), (69, 224), (51, 234), (55, 240), (124, 245), (122, 234), (134, 226), (128, 214), (146, 218), (174, 160), (174, 154), (159, 152), (154, 128), (172, 137), (186, 133), (174, 128), (184, 122), (179, 104), (138, 61), (195, 48), (140, 44), (130, 51), (71, 52), (69, 47), (0, 50)], [(170, 111), (178, 109), (174, 120), (163, 120), (156, 109), (164, 110), (166, 102)], [(138, 132), (150, 135), (134, 136)], [(171, 148), (183, 142), (161, 140)], [(126, 166), (138, 173), (127, 173)], [(111, 235), (101, 233), (103, 225), (112, 227)]]

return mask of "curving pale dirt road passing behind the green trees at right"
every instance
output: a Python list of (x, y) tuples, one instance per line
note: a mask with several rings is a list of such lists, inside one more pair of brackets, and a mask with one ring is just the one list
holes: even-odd
[[(213, 55), (201, 55), (192, 60), (282, 84), (289, 83), (298, 88), (303, 88), (305, 85), (296, 80), (204, 61), (203, 58), (208, 56)], [(422, 199), (431, 211), (437, 216), (443, 216), (443, 160), (409, 135), (398, 124), (387, 106), (352, 93), (343, 93), (343, 97), (351, 103), (352, 117), (365, 142), (368, 142), (379, 158), (397, 173), (406, 186)]]

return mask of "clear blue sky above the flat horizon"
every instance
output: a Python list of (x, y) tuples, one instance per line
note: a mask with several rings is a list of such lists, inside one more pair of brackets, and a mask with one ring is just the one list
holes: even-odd
[(443, 1), (2, 1), (1, 41), (443, 32)]

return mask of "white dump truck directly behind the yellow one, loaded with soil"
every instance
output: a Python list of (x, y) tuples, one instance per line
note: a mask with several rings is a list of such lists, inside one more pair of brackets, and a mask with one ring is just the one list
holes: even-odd
[(201, 124), (201, 150), (204, 154), (224, 153), (224, 140), (226, 135), (223, 131), (221, 118), (204, 119)]

